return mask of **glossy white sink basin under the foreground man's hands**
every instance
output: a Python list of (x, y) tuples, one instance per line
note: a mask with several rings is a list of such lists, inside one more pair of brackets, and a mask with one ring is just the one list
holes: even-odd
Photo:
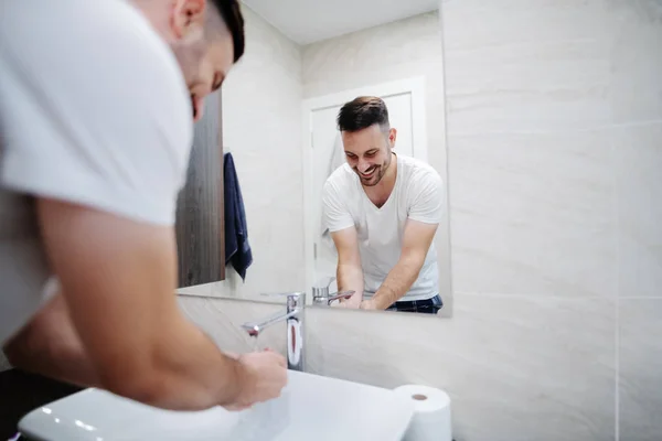
[(19, 430), (34, 441), (399, 441), (413, 413), (389, 389), (289, 370), (280, 398), (242, 412), (175, 412), (90, 388), (31, 411)]

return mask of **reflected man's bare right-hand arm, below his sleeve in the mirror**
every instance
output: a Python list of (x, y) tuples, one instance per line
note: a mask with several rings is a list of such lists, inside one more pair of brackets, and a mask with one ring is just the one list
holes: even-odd
[(409, 291), (423, 268), (437, 226), (438, 224), (407, 219), (399, 260), (377, 292), (372, 299), (363, 301), (361, 308), (385, 310)]

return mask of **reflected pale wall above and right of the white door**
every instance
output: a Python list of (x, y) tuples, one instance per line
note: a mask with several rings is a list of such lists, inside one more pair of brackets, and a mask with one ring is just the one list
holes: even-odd
[[(435, 11), (306, 45), (301, 51), (303, 98), (423, 76), (428, 161), (448, 183), (440, 42), (439, 14)], [(448, 225), (446, 212), (435, 240), (442, 295), (451, 292)], [(444, 295), (444, 301), (452, 311), (452, 298)]]

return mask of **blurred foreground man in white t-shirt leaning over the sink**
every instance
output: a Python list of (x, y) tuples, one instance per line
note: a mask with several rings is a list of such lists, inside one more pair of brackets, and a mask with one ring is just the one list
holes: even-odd
[(285, 358), (223, 354), (178, 309), (193, 119), (243, 54), (236, 0), (0, 0), (0, 344), (148, 405), (243, 409)]

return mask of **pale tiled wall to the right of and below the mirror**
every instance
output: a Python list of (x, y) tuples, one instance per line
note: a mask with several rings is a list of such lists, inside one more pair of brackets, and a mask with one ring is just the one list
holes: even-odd
[[(308, 369), (444, 388), (457, 440), (659, 441), (660, 2), (450, 0), (442, 22), (453, 318), (310, 309)], [(232, 351), (282, 308), (180, 304)]]

